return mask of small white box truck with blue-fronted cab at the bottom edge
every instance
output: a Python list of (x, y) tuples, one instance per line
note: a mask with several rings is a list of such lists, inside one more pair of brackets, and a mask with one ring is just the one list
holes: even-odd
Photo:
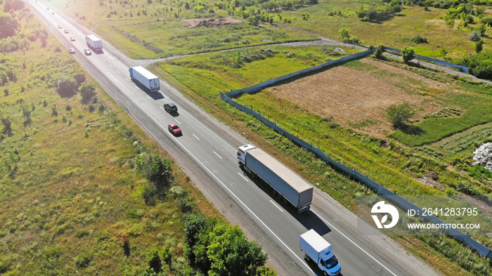
[(301, 235), (299, 247), (306, 254), (306, 259), (313, 260), (325, 276), (339, 275), (342, 268), (332, 251), (332, 245), (311, 229)]

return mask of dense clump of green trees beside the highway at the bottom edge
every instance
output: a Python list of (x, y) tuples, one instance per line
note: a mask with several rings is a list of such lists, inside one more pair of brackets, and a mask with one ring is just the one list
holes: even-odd
[[(202, 214), (185, 217), (188, 258), (204, 274), (271, 275), (262, 268), (266, 254), (256, 242), (248, 242), (238, 225), (208, 220)], [(259, 270), (261, 268), (261, 270)]]

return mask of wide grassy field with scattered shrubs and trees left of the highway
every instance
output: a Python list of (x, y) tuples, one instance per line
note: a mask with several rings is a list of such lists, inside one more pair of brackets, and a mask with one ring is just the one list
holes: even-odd
[[(11, 3), (11, 2), (9, 2)], [(0, 11), (0, 274), (275, 275), (37, 17)], [(3, 6), (3, 5), (2, 5)], [(7, 30), (7, 32), (5, 32)], [(200, 244), (195, 261), (190, 218)], [(247, 254), (238, 265), (234, 251)], [(198, 252), (198, 249), (197, 249)], [(231, 261), (232, 260), (232, 261)]]

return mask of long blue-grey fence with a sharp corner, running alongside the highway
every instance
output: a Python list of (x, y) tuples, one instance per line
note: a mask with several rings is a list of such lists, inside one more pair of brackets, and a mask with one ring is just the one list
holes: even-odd
[[(364, 176), (362, 173), (359, 173), (358, 171), (351, 169), (348, 166), (345, 166), (344, 164), (340, 164), (339, 162), (331, 159), (328, 155), (325, 154), (325, 152), (319, 150), (317, 147), (311, 145), (310, 143), (307, 143), (306, 141), (298, 138), (297, 136), (292, 135), (292, 133), (286, 131), (285, 129), (282, 129), (280, 126), (277, 126), (276, 123), (270, 121), (269, 119), (266, 119), (265, 117), (261, 116), (261, 114), (252, 110), (251, 108), (245, 107), (244, 105), (240, 105), (239, 103), (236, 103), (234, 100), (232, 100), (233, 97), (240, 96), (242, 93), (256, 93), (268, 86), (273, 86), (283, 81), (292, 81), (294, 79), (297, 79), (298, 77), (302, 77), (307, 74), (311, 74), (313, 72), (318, 72), (321, 70), (327, 70), (330, 67), (333, 67), (335, 65), (341, 65), (342, 63), (346, 63), (350, 60), (365, 58), (366, 56), (373, 53), (373, 51), (374, 50), (368, 50), (368, 51), (363, 51), (361, 53), (356, 53), (354, 55), (348, 55), (347, 57), (340, 58), (339, 60), (332, 60), (328, 63), (324, 63), (322, 65), (318, 65), (315, 67), (306, 68), (304, 70), (299, 70), (297, 72), (287, 74), (283, 77), (269, 79), (268, 81), (263, 81), (260, 84), (256, 84), (254, 86), (241, 88), (228, 93), (221, 93), (220, 97), (222, 100), (225, 100), (233, 107), (238, 108), (238, 110), (241, 110), (242, 112), (250, 114), (256, 119), (259, 119), (259, 121), (266, 124), (266, 126), (270, 127), (277, 133), (280, 133), (282, 136), (285, 136), (285, 138), (291, 140), (293, 143), (296, 143), (297, 145), (304, 147), (306, 150), (313, 152), (318, 158), (325, 161), (327, 164), (332, 166), (337, 171), (344, 173), (346, 176), (349, 176), (350, 178), (354, 178), (358, 180), (359, 182), (363, 183), (363, 185), (366, 185), (368, 188), (375, 191), (377, 195), (381, 195), (385, 199), (388, 199), (388, 201), (392, 202), (396, 206), (399, 206), (404, 211), (408, 211), (409, 209), (415, 209), (415, 210), (419, 210), (420, 213), (422, 213), (422, 209), (420, 209), (420, 207), (415, 206), (415, 204), (409, 202), (407, 199), (404, 199), (403, 197), (396, 195), (394, 192), (391, 192), (387, 188), (384, 188), (384, 186), (380, 185), (379, 183), (376, 183), (374, 180), (368, 178), (367, 176)], [(391, 49), (391, 51), (394, 51), (394, 49)], [(441, 221), (439, 218), (436, 218), (435, 216), (425, 216), (425, 218), (427, 219), (427, 221), (429, 221), (429, 223), (437, 223), (437, 224), (444, 223), (443, 221)], [(446, 235), (449, 235), (454, 239), (458, 240), (459, 242), (461, 242), (462, 244), (465, 244), (465, 246), (470, 247), (472, 250), (476, 251), (480, 256), (487, 257), (492, 260), (491, 249), (488, 249), (483, 244), (480, 244), (479, 242), (472, 239), (471, 237), (468, 237), (467, 235), (460, 232), (459, 230), (452, 228), (444, 231), (446, 232)]]

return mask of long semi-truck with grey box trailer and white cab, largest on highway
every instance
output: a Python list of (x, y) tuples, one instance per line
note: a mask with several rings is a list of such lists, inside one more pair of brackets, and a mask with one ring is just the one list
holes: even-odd
[(252, 145), (239, 147), (238, 164), (251, 176), (270, 185), (273, 194), (292, 204), (298, 213), (311, 208), (313, 186), (263, 150)]

